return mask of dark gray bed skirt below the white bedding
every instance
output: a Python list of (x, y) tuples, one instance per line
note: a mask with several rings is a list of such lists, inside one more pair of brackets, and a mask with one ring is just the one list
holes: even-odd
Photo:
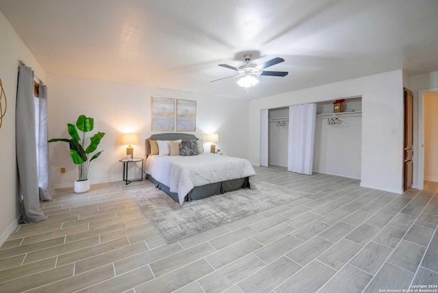
[[(176, 192), (170, 192), (170, 188), (168, 188), (168, 186), (155, 180), (155, 178), (153, 178), (151, 175), (146, 175), (146, 178), (154, 183), (159, 190), (166, 192), (166, 194), (168, 194), (168, 196), (170, 196), (174, 201), (177, 203), (179, 202), (178, 194)], [(185, 196), (184, 201), (205, 199), (208, 196), (223, 194), (224, 192), (229, 192), (240, 188), (250, 188), (249, 177), (196, 186)]]

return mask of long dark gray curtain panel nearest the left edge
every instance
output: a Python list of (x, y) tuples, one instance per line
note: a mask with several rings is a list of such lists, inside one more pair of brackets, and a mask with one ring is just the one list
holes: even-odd
[(21, 65), (16, 92), (16, 160), (23, 194), (23, 222), (40, 222), (46, 217), (40, 209), (35, 140), (34, 72)]

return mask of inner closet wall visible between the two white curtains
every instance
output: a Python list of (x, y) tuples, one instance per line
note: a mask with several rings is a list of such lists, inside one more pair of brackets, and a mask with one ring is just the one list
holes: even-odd
[[(269, 118), (281, 117), (289, 117), (289, 107), (269, 110)], [(278, 122), (269, 121), (269, 164), (287, 167), (289, 121), (284, 121), (285, 126), (277, 126)]]

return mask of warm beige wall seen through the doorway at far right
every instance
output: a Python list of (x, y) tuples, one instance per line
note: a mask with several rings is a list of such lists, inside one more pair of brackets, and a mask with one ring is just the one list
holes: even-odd
[(424, 180), (438, 182), (438, 92), (424, 94)]

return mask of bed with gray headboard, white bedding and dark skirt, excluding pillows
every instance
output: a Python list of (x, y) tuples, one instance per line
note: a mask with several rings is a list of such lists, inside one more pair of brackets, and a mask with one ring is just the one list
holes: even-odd
[(145, 140), (146, 179), (174, 201), (204, 199), (240, 188), (250, 188), (255, 175), (248, 160), (214, 153), (193, 156), (150, 155), (149, 140), (198, 140), (189, 133), (159, 133)]

